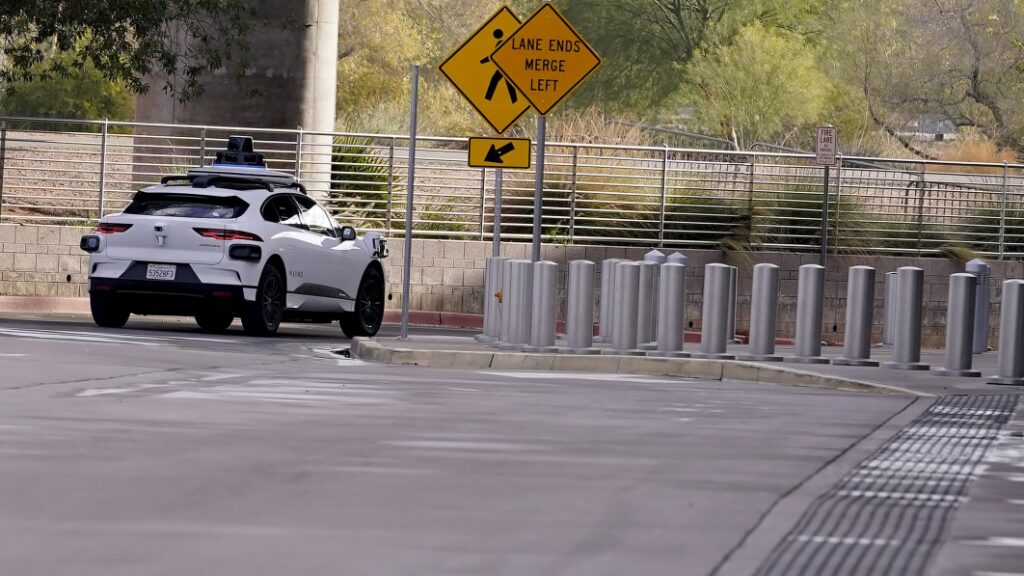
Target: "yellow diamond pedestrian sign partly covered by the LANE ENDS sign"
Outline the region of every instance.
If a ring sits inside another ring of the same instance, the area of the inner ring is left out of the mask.
[[[529,100],[490,58],[495,48],[519,28],[519,22],[512,10],[503,6],[440,67],[441,73],[499,133],[529,110]]]

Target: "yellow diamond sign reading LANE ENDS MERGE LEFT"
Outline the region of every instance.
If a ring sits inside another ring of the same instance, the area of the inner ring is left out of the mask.
[[[534,12],[490,59],[542,116],[601,65],[600,56],[550,3]]]

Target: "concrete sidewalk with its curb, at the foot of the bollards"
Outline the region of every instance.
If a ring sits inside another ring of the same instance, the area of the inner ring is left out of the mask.
[[[562,346],[564,343],[561,339],[557,342]],[[601,344],[595,346],[600,347]],[[694,352],[696,347],[687,346],[686,349]],[[995,352],[975,355],[974,367],[982,372],[984,377],[981,378],[950,377],[936,373],[934,369],[941,368],[944,362],[944,353],[941,351],[922,353],[922,362],[932,367],[933,370],[930,371],[831,364],[536,354],[503,351],[478,342],[472,337],[460,336],[411,336],[406,340],[355,338],[350,352],[353,357],[361,360],[395,366],[646,374],[926,397],[950,394],[999,394],[1024,389],[987,383],[986,377],[994,375],[996,371],[998,356]],[[728,352],[741,355],[746,352],[746,345],[730,345]],[[794,348],[778,346],[776,353],[786,357],[793,355]],[[822,356],[825,358],[842,355],[841,346],[822,348]],[[872,352],[872,360],[886,362],[891,357],[892,351],[889,347],[877,347]]]

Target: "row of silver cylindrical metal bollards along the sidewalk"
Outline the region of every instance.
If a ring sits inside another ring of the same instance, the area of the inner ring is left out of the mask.
[[[614,354],[729,360],[728,343],[735,338],[736,278],[734,266],[711,263],[705,269],[701,336],[698,352],[684,351],[686,264],[683,254],[652,252],[642,262],[610,258],[601,262],[599,335],[594,336],[595,264],[569,263],[566,302],[566,343],[557,347],[556,294],[558,266],[554,262],[492,257],[486,260],[483,333],[478,339],[500,348],[567,354]],[[740,360],[760,362],[828,363],[878,366],[871,360],[871,324],[876,271],[849,269],[846,333],[843,355],[821,356],[825,269],[800,268],[797,327],[792,356],[775,354],[779,266],[754,266],[750,341]],[[893,357],[883,366],[899,370],[928,370],[921,362],[924,271],[904,266],[886,275],[883,342],[892,343]],[[986,279],[987,282],[987,279]],[[978,344],[975,314],[977,274],[954,274],[949,279],[946,356],[938,373],[980,376],[972,368]],[[987,290],[985,290],[987,292]],[[996,383],[1024,385],[1024,280],[1004,283],[998,374]],[[987,299],[985,300],[987,310]],[[984,324],[987,330],[987,320]],[[603,351],[594,342],[605,344]],[[987,345],[987,343],[986,343]]]

